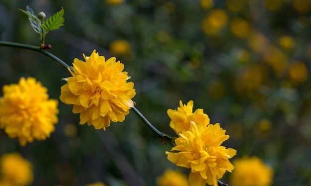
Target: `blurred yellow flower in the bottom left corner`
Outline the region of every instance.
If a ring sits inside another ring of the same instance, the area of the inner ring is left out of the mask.
[[[1,183],[5,186],[28,186],[32,183],[32,165],[18,153],[0,157]],[[4,184],[5,183],[5,184]]]

